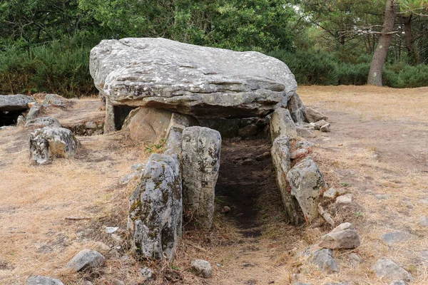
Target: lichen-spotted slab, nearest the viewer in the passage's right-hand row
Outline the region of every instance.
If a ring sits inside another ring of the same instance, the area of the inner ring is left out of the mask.
[[[298,162],[287,173],[291,195],[297,199],[307,222],[314,221],[318,215],[318,203],[322,190],[327,186],[317,164],[311,157]]]

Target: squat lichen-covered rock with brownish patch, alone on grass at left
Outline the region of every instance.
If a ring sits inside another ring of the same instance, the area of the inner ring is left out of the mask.
[[[53,157],[74,157],[80,142],[71,130],[45,127],[30,134],[30,156],[34,162],[44,164]]]

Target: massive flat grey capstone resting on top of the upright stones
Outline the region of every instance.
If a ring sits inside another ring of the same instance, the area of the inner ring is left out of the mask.
[[[113,105],[164,108],[197,118],[263,116],[287,105],[297,89],[290,69],[276,58],[165,38],[101,41],[91,51],[90,70],[109,105],[107,125],[114,121]]]

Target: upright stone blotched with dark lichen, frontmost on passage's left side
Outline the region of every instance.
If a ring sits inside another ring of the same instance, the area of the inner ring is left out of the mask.
[[[128,230],[140,257],[173,258],[181,235],[181,193],[178,156],[151,155],[129,202]]]

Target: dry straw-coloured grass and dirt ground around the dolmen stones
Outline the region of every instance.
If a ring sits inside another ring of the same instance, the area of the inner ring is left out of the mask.
[[[305,105],[330,118],[331,133],[311,139],[317,144],[311,155],[330,186],[352,193],[355,204],[328,209],[337,223],[357,227],[362,245],[335,252],[338,274],[323,274],[301,262],[298,253],[317,236],[283,221],[280,195],[270,182],[270,157],[240,168],[245,157],[238,156],[255,157],[268,151],[268,145],[230,141],[222,151],[222,163],[230,165],[220,167],[218,187],[233,190],[233,184],[252,196],[248,199],[243,191],[245,199],[240,201],[239,195],[218,190],[222,194],[212,231],[187,225],[173,264],[146,263],[159,272],[153,284],[290,284],[293,274],[312,285],[389,284],[371,270],[381,257],[411,272],[412,284],[428,284],[428,228],[419,224],[419,217],[428,216],[428,88],[304,86],[298,92]],[[147,145],[131,142],[126,133],[79,137],[83,149],[76,159],[36,167],[29,163],[27,135],[24,130],[0,130],[0,284],[23,284],[31,274],[58,277],[64,284],[83,284],[85,279],[94,284],[115,284],[117,279],[144,284],[128,252],[126,234],[121,233],[124,242],[118,243],[104,227],[126,229],[132,183],[118,182],[131,165],[148,158]],[[233,211],[220,214],[224,205]],[[251,222],[241,219],[241,212],[247,212]],[[68,216],[91,219],[69,222]],[[330,231],[325,224],[314,227],[322,234]],[[382,241],[382,234],[397,231],[408,232],[407,239],[392,245]],[[85,248],[105,254],[106,266],[94,274],[64,270]],[[350,259],[351,252],[362,257],[361,264]],[[188,264],[196,258],[211,262],[211,279],[190,273]]]

